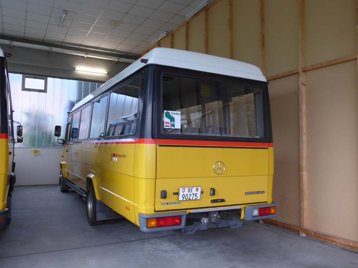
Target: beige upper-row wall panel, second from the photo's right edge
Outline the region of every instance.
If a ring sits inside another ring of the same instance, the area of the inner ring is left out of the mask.
[[[298,0],[265,1],[265,75],[298,68]]]

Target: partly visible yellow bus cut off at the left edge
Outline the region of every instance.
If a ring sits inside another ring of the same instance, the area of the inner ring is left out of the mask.
[[[9,84],[8,66],[5,57],[11,54],[0,49],[0,229],[11,220],[11,194],[16,181],[14,161],[13,106]],[[17,126],[17,135],[22,136],[22,126]],[[23,138],[18,137],[17,142]]]

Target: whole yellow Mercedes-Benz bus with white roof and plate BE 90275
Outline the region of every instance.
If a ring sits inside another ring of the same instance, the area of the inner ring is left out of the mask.
[[[91,225],[192,234],[276,214],[267,82],[251,64],[155,48],[73,107],[61,143],[60,190],[83,196]]]

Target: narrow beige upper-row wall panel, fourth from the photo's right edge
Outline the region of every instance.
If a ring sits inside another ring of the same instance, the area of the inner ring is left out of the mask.
[[[208,54],[229,58],[228,0],[208,10]]]

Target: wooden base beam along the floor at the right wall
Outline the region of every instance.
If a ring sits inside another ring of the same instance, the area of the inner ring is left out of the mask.
[[[349,248],[358,251],[358,242],[355,242],[353,240],[344,239],[341,237],[336,237],[325,233],[320,233],[315,230],[311,230],[307,228],[301,228],[297,225],[284,223],[279,220],[264,219],[264,220],[259,220],[259,223],[270,224],[285,230],[289,230],[294,233],[305,233],[308,237],[312,237],[324,242],[328,242],[331,244],[339,245],[344,248]]]

